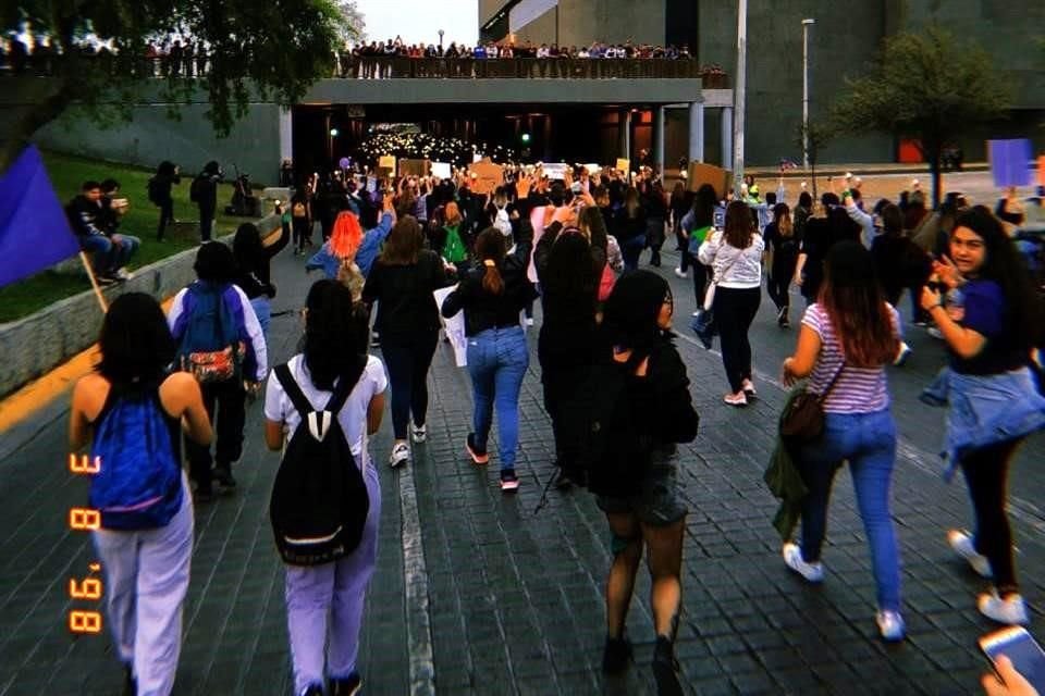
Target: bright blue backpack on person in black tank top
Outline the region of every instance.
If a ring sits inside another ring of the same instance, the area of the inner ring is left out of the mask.
[[[110,387],[95,421],[90,507],[107,530],[167,525],[182,505],[179,433],[160,406],[159,393]]]

